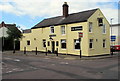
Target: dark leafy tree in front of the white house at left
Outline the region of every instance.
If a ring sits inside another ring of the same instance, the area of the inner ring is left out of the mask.
[[[4,38],[4,50],[19,49],[19,39],[22,37],[21,31],[17,27],[8,27],[8,37]],[[16,40],[15,40],[16,39]],[[16,48],[14,47],[16,46]]]

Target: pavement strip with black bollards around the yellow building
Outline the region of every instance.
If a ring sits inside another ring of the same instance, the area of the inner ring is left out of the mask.
[[[87,56],[82,56],[81,58],[79,56],[74,56],[74,55],[63,55],[63,54],[58,54],[58,56],[56,54],[53,53],[41,53],[38,52],[36,54],[36,52],[26,52],[26,54],[24,54],[23,51],[16,51],[15,53],[13,53],[13,51],[4,51],[3,54],[8,54],[8,55],[22,55],[22,56],[34,56],[34,57],[42,57],[42,58],[56,58],[56,59],[68,59],[68,60],[95,60],[95,59],[105,59],[105,58],[113,58],[116,57],[118,58],[120,56],[120,52],[114,52],[113,55],[108,54],[108,55],[102,55],[102,56],[91,56],[91,57],[87,57]]]

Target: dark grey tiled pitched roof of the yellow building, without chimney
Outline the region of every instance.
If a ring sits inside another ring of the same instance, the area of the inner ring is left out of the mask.
[[[62,25],[62,24],[85,22],[96,10],[98,9],[69,14],[69,16],[66,18],[63,16],[58,16],[58,17],[44,19],[43,21],[39,22],[37,25],[32,27],[32,29],[49,27],[52,25],[55,26],[55,25]]]

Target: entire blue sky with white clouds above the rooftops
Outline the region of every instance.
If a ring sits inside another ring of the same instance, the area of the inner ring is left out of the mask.
[[[100,8],[109,22],[111,18],[112,24],[119,22],[118,0],[0,0],[0,23],[30,29],[43,19],[61,16],[64,2],[69,5],[69,14]]]

